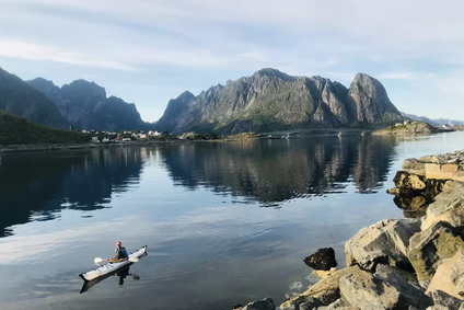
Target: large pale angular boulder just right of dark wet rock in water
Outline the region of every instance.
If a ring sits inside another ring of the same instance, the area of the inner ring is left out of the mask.
[[[419,219],[387,219],[362,228],[345,244],[347,265],[374,271],[382,263],[410,269],[409,238],[419,230]]]

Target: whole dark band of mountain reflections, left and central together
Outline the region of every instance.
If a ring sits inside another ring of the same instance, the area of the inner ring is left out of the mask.
[[[55,219],[62,208],[109,207],[114,193],[137,186],[153,149],[176,185],[277,207],[344,192],[351,182],[359,193],[375,193],[396,143],[394,137],[312,137],[3,156],[0,237],[14,225]]]

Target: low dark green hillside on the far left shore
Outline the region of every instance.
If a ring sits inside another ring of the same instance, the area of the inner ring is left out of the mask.
[[[89,135],[51,128],[0,111],[0,145],[85,143],[89,141]]]

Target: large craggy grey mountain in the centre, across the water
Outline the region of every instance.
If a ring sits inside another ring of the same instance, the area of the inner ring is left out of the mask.
[[[383,85],[358,73],[349,89],[322,77],[262,69],[195,96],[171,100],[156,124],[171,133],[271,131],[291,128],[379,126],[402,120]]]

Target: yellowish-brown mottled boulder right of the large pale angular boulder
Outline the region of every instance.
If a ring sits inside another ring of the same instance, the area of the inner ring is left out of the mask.
[[[419,283],[427,286],[437,271],[439,261],[450,259],[463,248],[464,241],[444,222],[438,222],[414,234],[409,240],[409,262]]]

